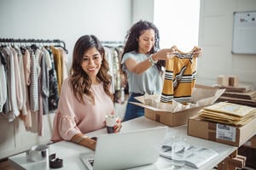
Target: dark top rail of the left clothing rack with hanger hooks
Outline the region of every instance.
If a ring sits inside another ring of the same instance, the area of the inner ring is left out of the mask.
[[[62,40],[59,39],[53,39],[53,40],[49,40],[49,39],[14,39],[14,38],[0,38],[0,43],[1,45],[8,45],[8,44],[14,44],[14,43],[20,43],[20,45],[22,45],[22,43],[41,43],[41,44],[45,44],[45,43],[50,43],[53,44],[55,47],[60,47],[63,48],[66,53],[68,53],[67,48],[66,48],[66,43]]]

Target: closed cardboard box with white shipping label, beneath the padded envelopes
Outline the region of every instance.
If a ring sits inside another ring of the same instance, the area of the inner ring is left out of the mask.
[[[256,116],[242,127],[224,125],[201,120],[199,116],[189,118],[188,135],[208,139],[222,144],[241,146],[256,133]]]

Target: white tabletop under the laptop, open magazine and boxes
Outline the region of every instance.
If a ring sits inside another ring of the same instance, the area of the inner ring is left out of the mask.
[[[144,116],[139,117],[137,119],[133,119],[128,122],[123,122],[123,127],[121,129],[121,132],[125,131],[131,131],[136,129],[143,129],[147,127],[157,127],[157,126],[163,126],[163,124],[159,122],[154,122]],[[92,133],[88,133],[87,135],[90,137],[97,136],[102,133],[107,133],[106,129],[101,129]],[[206,165],[201,167],[200,169],[208,170],[212,169],[216,165],[218,165],[219,162],[223,161],[226,156],[229,156],[232,152],[234,152],[237,147],[227,145],[227,144],[219,144],[217,142],[212,142],[205,139],[199,139],[192,136],[187,135],[187,125],[179,126],[179,127],[169,127],[168,128],[168,134],[166,136],[166,139],[168,139],[168,136],[172,135],[184,135],[187,136],[189,144],[196,144],[201,145],[207,148],[210,148],[212,150],[216,150],[218,152],[218,156],[212,159],[212,161],[207,162]],[[127,145],[126,145],[127,146]],[[87,149],[83,146],[80,146],[79,144],[73,144],[71,142],[67,141],[61,141],[55,144],[49,144],[49,154],[56,153],[56,156],[63,159],[63,167],[58,169],[86,169],[84,166],[84,163],[80,160],[79,154],[84,152],[91,152],[90,149]],[[45,161],[39,161],[39,162],[31,162],[26,161],[26,153],[20,153],[15,156],[9,157],[9,162],[16,167],[17,169],[28,169],[28,170],[41,170],[41,169],[47,169],[49,167],[45,166]],[[132,170],[167,170],[171,169],[171,160],[159,157],[158,161],[152,165],[149,166],[143,166],[143,167],[135,167],[131,168]],[[49,168],[50,169],[50,168]],[[194,169],[192,167],[185,167],[184,169]]]

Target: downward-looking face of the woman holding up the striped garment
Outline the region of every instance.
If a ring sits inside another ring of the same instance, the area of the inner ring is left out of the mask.
[[[148,29],[142,32],[138,37],[138,52],[141,54],[148,54],[154,46],[154,30]]]

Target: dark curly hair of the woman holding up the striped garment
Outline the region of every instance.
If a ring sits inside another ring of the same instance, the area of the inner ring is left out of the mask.
[[[148,22],[146,20],[139,20],[137,23],[135,23],[133,26],[131,26],[130,30],[127,32],[125,36],[125,47],[124,47],[124,52],[122,54],[122,58],[124,54],[131,52],[131,51],[136,51],[138,52],[138,39],[139,37],[143,34],[144,31],[153,29],[154,30],[154,46],[151,48],[149,51],[149,54],[154,54],[157,51],[160,50],[160,35],[159,35],[159,30],[157,29],[156,26],[154,26],[153,23]],[[158,70],[161,72],[161,67],[166,65],[165,60],[159,60],[156,64]]]

